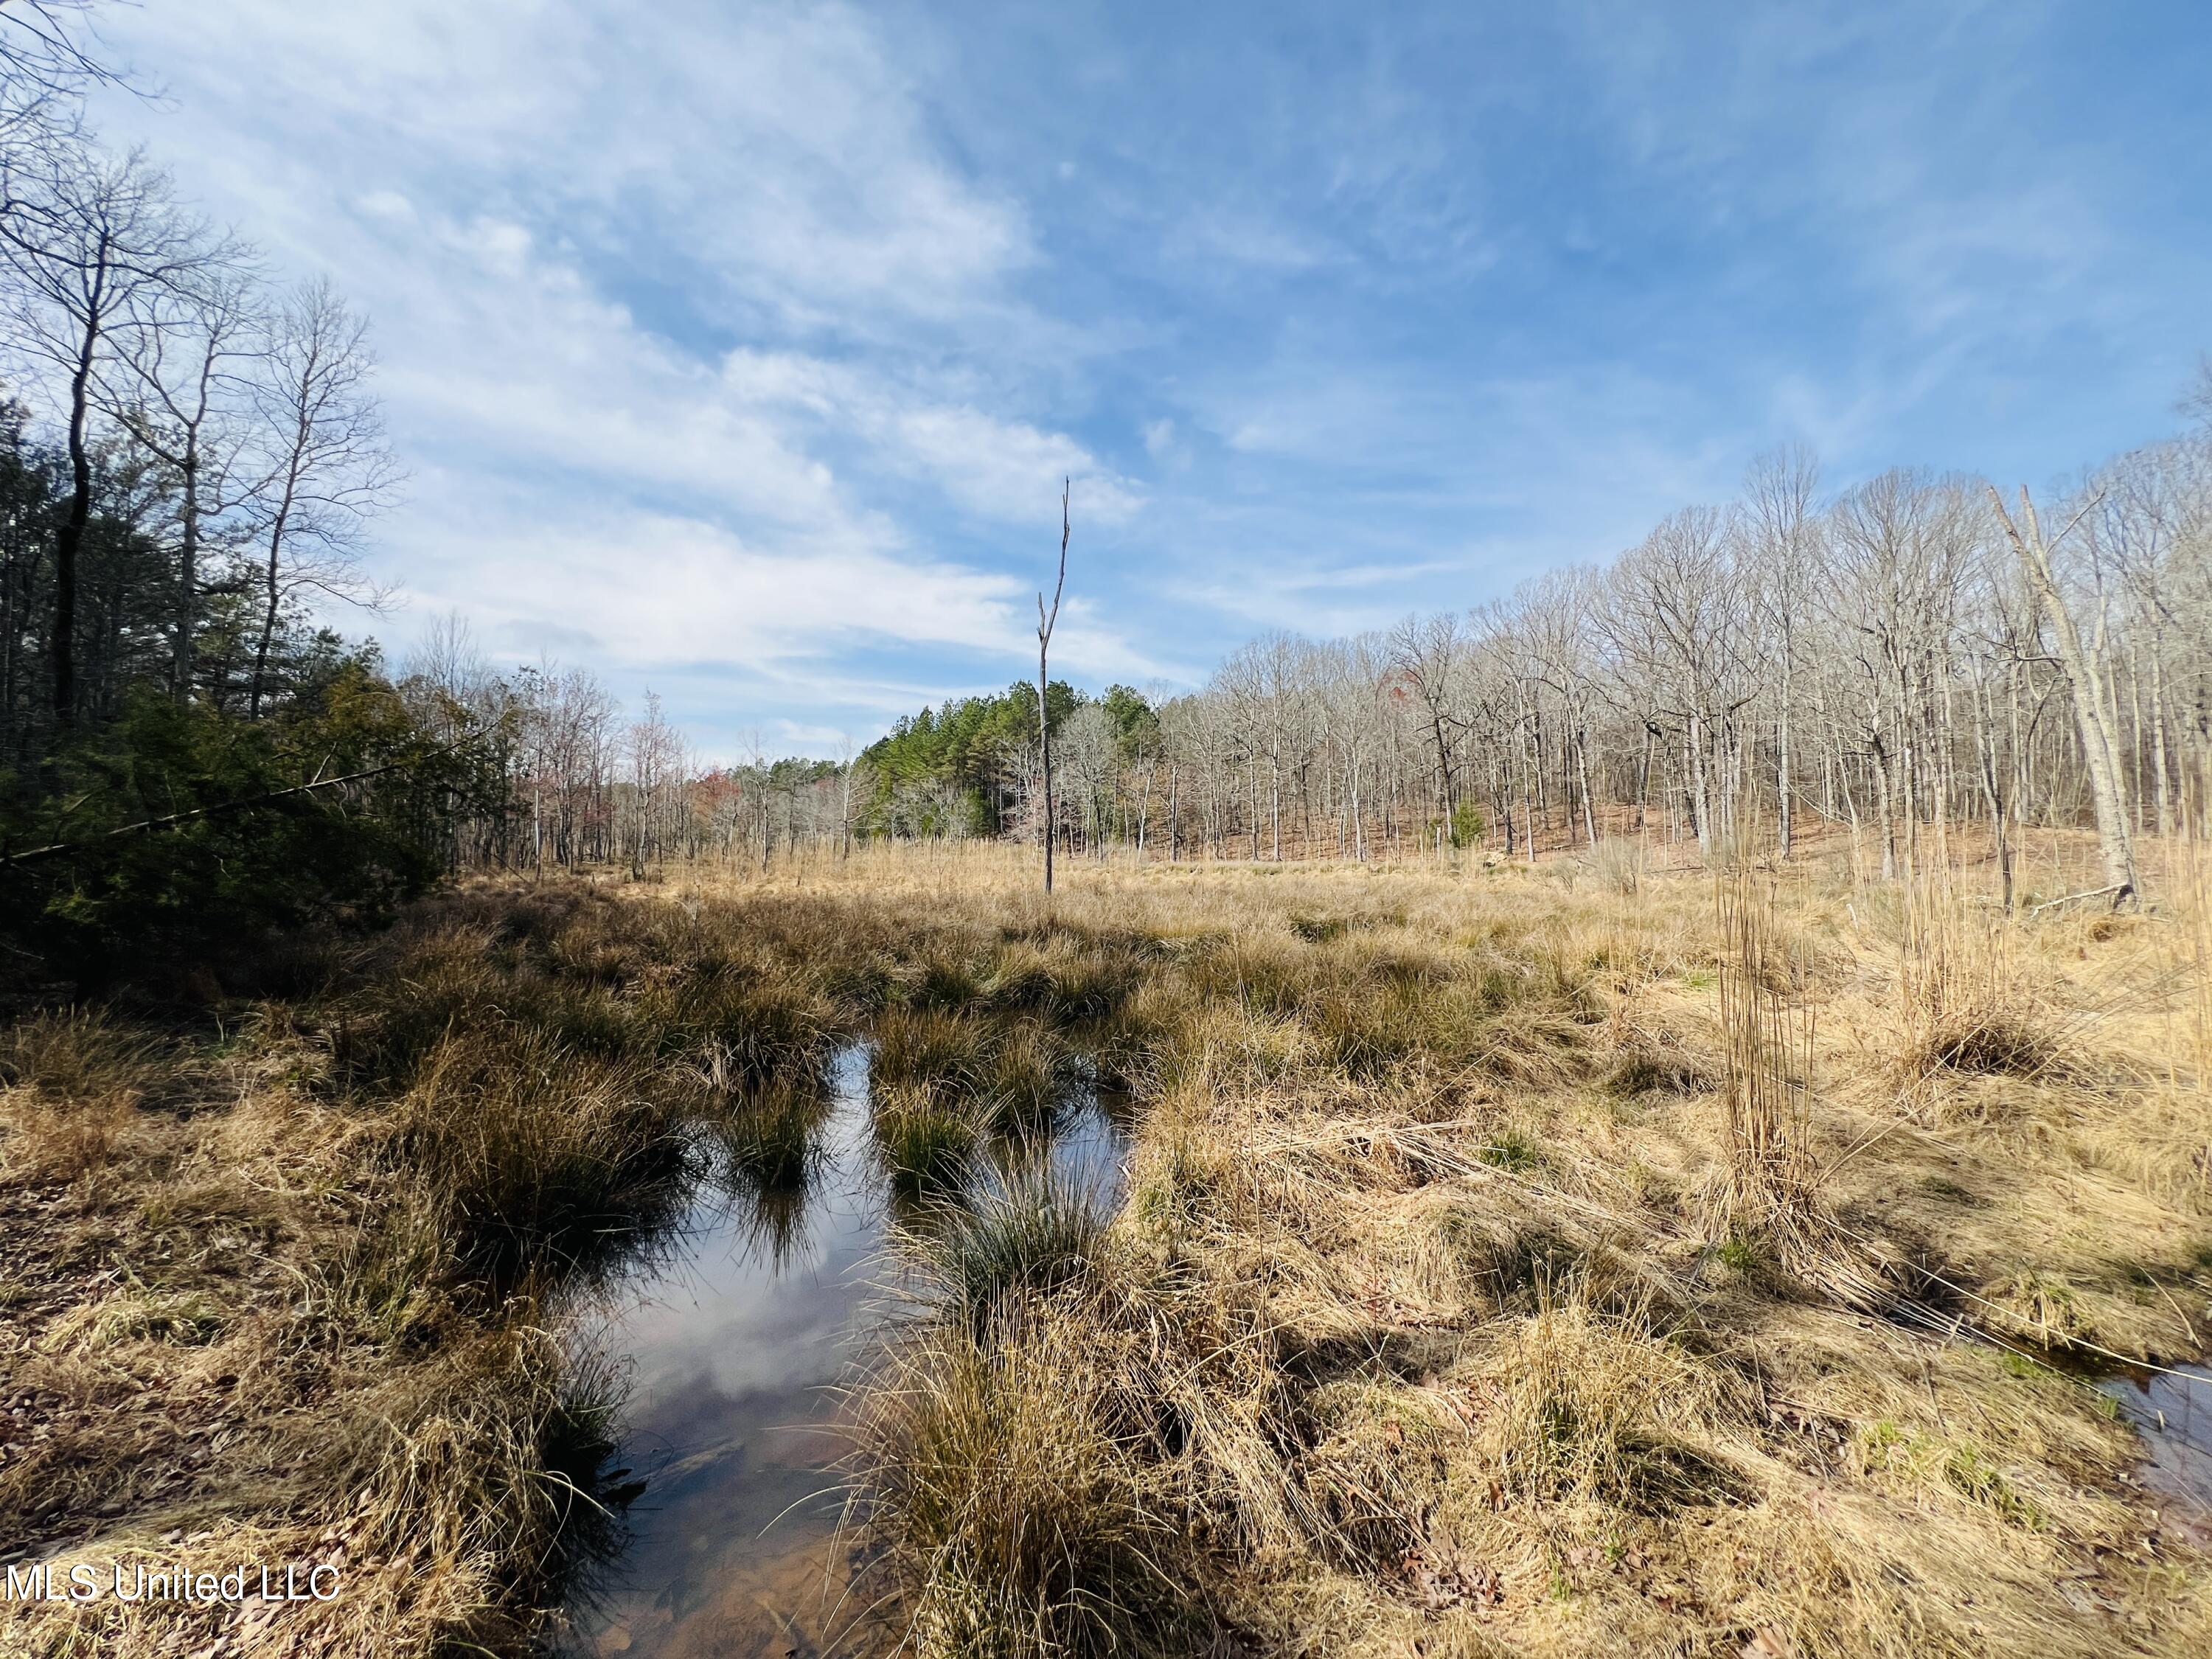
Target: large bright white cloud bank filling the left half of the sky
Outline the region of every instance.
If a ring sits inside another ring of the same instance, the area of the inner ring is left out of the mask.
[[[821,677],[856,639],[1018,659],[1022,584],[920,551],[905,500],[1029,524],[1073,476],[1093,522],[1139,511],[1009,407],[1055,327],[1009,299],[1026,219],[940,155],[856,13],[119,13],[175,97],[111,122],[374,319],[418,478],[380,526],[407,615],[635,672]],[[1068,659],[1146,666],[1102,628]]]

